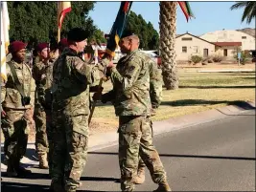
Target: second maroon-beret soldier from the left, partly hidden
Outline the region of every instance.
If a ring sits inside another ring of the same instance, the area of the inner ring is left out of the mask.
[[[48,139],[46,133],[46,111],[51,110],[50,103],[45,102],[45,90],[49,89],[51,83],[47,79],[46,71],[51,69],[53,60],[50,60],[50,49],[48,43],[39,43],[36,48],[37,57],[33,66],[33,77],[35,79],[35,148],[39,159],[39,168],[48,169]],[[50,70],[51,71],[51,70]],[[49,72],[51,73],[51,72]],[[48,104],[48,106],[47,106]],[[47,109],[46,109],[47,110]]]

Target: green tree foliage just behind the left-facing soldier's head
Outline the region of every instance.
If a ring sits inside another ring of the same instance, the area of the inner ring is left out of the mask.
[[[141,14],[130,11],[126,31],[138,34],[140,48],[144,50],[158,50],[159,34],[153,29],[151,22],[147,23]]]

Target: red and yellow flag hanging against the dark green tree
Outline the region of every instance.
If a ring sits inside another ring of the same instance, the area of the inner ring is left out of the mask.
[[[71,11],[70,1],[58,2],[58,29],[61,29],[65,14]]]

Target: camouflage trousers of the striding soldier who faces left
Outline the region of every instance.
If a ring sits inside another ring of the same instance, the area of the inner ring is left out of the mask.
[[[147,117],[119,117],[119,165],[122,191],[134,190],[139,157],[155,183],[166,181],[166,172],[152,144],[151,120]]]

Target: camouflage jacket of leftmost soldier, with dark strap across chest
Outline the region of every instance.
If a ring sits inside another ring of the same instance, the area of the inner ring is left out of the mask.
[[[26,96],[30,96],[30,89],[31,89],[31,80],[32,80],[32,73],[30,67],[25,64],[18,64],[11,60],[6,65],[6,73],[7,73],[7,82],[5,85],[2,85],[1,87],[1,98],[2,98],[2,105],[6,108],[12,108],[12,109],[30,109],[32,106],[26,105],[22,106],[21,102],[21,95],[18,92],[15,84],[13,75],[11,72],[11,68],[9,65],[14,65],[14,69],[17,74],[17,78],[22,85],[22,88],[24,90],[24,94]]]

